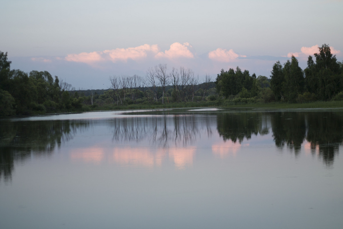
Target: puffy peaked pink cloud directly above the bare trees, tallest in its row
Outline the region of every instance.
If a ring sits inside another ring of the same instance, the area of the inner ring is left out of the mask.
[[[175,42],[170,45],[169,50],[165,50],[164,52],[159,52],[156,54],[155,58],[179,58],[179,57],[186,57],[186,58],[194,58],[194,54],[189,50],[192,46],[189,43],[180,44]]]

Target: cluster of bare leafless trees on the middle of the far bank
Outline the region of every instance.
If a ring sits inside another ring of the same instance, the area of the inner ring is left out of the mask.
[[[206,75],[205,80],[200,83],[193,70],[173,67],[170,72],[167,72],[166,64],[149,68],[145,77],[114,75],[109,77],[109,81],[111,91],[105,92],[104,95],[107,94],[106,99],[112,98],[112,102],[117,105],[194,102],[205,100],[214,88],[209,75]]]

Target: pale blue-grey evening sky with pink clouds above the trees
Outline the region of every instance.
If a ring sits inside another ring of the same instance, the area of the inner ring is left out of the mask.
[[[238,66],[270,77],[292,54],[302,69],[328,44],[343,59],[343,0],[1,1],[11,69],[49,71],[76,89],[158,64],[215,80]]]

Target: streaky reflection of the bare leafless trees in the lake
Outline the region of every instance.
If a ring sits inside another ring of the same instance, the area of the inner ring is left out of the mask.
[[[199,137],[202,130],[207,137],[212,135],[215,125],[213,116],[199,115],[161,115],[135,117],[134,119],[115,119],[113,122],[113,140],[118,142],[148,140],[151,145],[166,148],[170,144],[188,146]],[[204,125],[205,123],[205,125]]]

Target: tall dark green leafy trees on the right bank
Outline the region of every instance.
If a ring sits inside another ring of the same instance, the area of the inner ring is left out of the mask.
[[[249,75],[239,67],[217,75],[215,84],[221,98],[245,102],[309,102],[343,100],[343,64],[331,54],[329,45],[319,47],[315,61],[308,57],[302,70],[292,56],[284,65],[273,65],[270,79]]]

